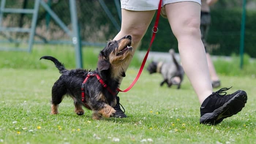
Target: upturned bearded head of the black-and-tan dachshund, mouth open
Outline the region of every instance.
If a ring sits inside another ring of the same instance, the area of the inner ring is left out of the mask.
[[[126,35],[119,40],[109,41],[98,56],[98,71],[111,69],[114,79],[125,76],[123,66],[132,58],[133,48],[131,47],[132,37]]]

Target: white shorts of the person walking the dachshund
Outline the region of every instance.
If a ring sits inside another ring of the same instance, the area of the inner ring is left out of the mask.
[[[164,5],[170,3],[177,3],[181,1],[194,1],[201,5],[201,0],[162,0],[161,15],[166,18]],[[159,0],[121,0],[121,8],[131,11],[151,11],[157,10]]]

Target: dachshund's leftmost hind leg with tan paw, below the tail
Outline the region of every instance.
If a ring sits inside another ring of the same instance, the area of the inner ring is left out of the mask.
[[[58,106],[61,103],[64,95],[67,93],[67,88],[65,87],[63,81],[57,80],[52,87],[52,107],[51,114],[58,113]]]

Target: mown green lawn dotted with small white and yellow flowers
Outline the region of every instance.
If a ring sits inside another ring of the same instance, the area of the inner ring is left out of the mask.
[[[122,90],[137,72],[128,69]],[[59,76],[57,69],[0,69],[0,144],[255,143],[255,77],[221,75],[222,87],[233,86],[228,93],[245,90],[248,101],[240,113],[209,126],[199,124],[200,104],[187,77],[180,90],[160,87],[161,75],[146,69],[130,91],[118,94],[127,118],[92,120],[90,110],[76,115],[71,98],[50,115]]]

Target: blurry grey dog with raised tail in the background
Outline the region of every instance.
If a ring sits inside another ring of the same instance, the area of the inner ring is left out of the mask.
[[[163,61],[152,61],[148,67],[147,70],[150,74],[152,73],[161,73],[163,76],[163,81],[160,83],[160,86],[163,86],[164,83],[168,85],[168,87],[171,87],[172,84],[178,85],[178,89],[180,89],[181,82],[184,77],[184,70],[181,67],[180,64],[178,64],[175,56],[174,56],[174,50],[169,50],[170,55],[172,56],[173,61],[172,62],[163,62]],[[175,82],[173,77],[179,77],[180,82]]]

